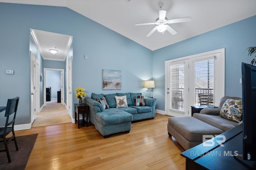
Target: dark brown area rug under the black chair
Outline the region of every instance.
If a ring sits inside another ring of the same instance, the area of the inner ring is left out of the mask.
[[[0,152],[0,170],[24,170],[38,134],[16,137],[19,150],[16,151],[14,141],[8,144],[11,163],[8,163],[6,152]],[[4,149],[4,143],[0,142],[0,150]]]

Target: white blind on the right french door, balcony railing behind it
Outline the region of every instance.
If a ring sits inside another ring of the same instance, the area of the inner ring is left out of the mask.
[[[194,103],[214,105],[215,56],[193,62],[194,70]]]

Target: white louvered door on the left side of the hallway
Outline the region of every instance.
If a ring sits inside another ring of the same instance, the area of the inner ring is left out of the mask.
[[[36,57],[30,51],[30,123],[32,124],[36,117]]]

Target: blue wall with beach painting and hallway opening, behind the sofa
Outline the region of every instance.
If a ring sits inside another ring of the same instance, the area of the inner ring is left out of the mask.
[[[16,125],[30,123],[30,28],[73,36],[73,91],[83,87],[89,97],[146,94],[143,81],[152,79],[152,51],[142,45],[65,7],[0,3],[0,16],[0,105],[20,96]],[[6,75],[6,69],[14,75]],[[102,69],[122,71],[122,90],[102,90]],[[74,93],[73,101],[78,102]]]

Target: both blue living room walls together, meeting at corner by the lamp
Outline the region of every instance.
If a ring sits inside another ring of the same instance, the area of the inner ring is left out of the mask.
[[[30,123],[30,28],[73,36],[73,54],[68,55],[73,55],[73,91],[83,87],[88,97],[116,92],[146,95],[143,81],[153,79],[159,110],[164,110],[164,61],[225,48],[225,93],[241,97],[241,62],[250,63],[246,48],[256,45],[256,16],[156,51],[65,7],[0,3],[0,16],[0,105],[20,96],[17,125]],[[7,75],[6,69],[14,70],[14,75]],[[122,71],[122,90],[102,90],[102,69]],[[73,93],[73,103],[77,102]]]

